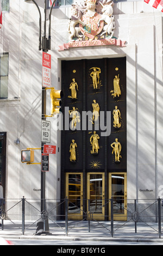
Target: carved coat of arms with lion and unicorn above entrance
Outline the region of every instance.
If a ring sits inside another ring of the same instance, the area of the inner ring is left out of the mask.
[[[70,41],[112,38],[115,21],[112,1],[86,0],[72,4],[72,15],[68,24]]]

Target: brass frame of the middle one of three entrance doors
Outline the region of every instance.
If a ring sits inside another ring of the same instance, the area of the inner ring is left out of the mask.
[[[91,174],[102,174],[102,213],[96,214],[91,212],[92,218],[95,218],[95,220],[104,221],[105,220],[105,173],[104,172],[92,172],[87,173],[87,212],[89,212],[89,200],[90,199],[90,175]]]

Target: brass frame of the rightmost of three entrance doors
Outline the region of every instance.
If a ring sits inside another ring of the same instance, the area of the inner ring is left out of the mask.
[[[124,175],[124,214],[114,214],[114,221],[127,221],[127,173],[109,173],[109,198],[111,194],[111,175],[120,174]],[[113,198],[114,199],[114,198]],[[109,221],[111,220],[111,204],[109,202]]]

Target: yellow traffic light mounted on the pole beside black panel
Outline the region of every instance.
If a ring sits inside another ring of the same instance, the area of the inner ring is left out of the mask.
[[[61,100],[64,93],[61,90],[55,90],[51,88],[51,114],[59,114],[61,112]]]

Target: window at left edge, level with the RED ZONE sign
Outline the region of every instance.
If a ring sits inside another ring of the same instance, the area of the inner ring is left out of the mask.
[[[8,97],[9,54],[0,54],[0,99]]]

